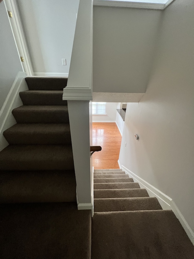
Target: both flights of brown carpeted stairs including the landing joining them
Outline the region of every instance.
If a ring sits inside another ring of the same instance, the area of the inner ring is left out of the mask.
[[[92,222],[77,209],[67,79],[25,80],[0,152],[0,258],[193,259],[174,213],[121,169],[95,170]]]

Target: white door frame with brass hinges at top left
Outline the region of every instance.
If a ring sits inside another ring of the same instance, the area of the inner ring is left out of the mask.
[[[22,56],[24,58],[24,62],[21,61],[23,71],[26,73],[27,76],[33,76],[34,72],[32,69],[32,63],[28,51],[28,46],[25,40],[22,22],[20,19],[18,6],[16,0],[4,0],[5,7],[7,11],[12,12],[12,18],[9,17],[9,22],[12,28],[12,33],[15,39],[15,44],[18,50],[19,58]]]

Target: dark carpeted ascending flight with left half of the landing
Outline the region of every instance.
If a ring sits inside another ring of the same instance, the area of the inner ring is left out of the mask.
[[[77,210],[67,78],[26,77],[0,152],[0,258],[91,258],[91,212]]]

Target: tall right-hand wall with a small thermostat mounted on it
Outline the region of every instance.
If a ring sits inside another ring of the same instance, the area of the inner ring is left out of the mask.
[[[121,165],[173,199],[192,230],[193,13],[193,0],[176,0],[165,9],[148,88],[139,103],[127,105],[119,155]]]

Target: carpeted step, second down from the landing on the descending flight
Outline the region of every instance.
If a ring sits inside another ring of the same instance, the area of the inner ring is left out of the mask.
[[[95,199],[149,197],[146,189],[105,189],[94,190]]]

